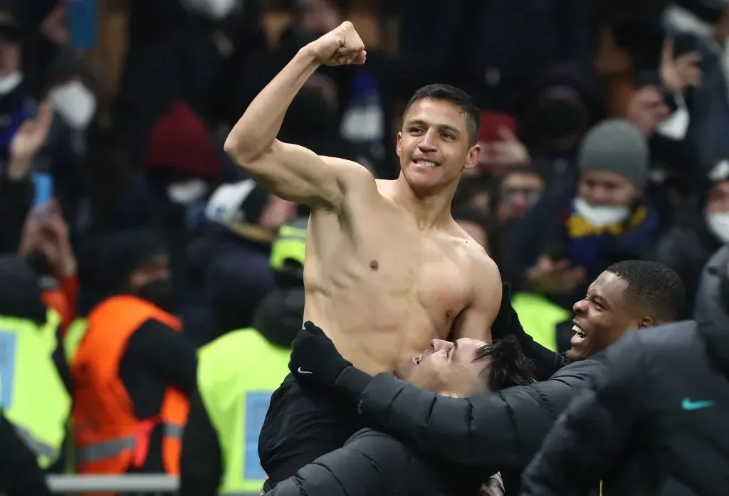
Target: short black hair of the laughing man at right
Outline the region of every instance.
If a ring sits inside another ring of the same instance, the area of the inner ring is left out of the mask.
[[[652,315],[660,322],[671,322],[686,304],[681,277],[657,261],[619,261],[606,270],[628,283],[625,302],[636,315]]]

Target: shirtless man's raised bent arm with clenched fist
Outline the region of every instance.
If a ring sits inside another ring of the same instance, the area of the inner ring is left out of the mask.
[[[338,208],[348,186],[374,184],[370,173],[354,162],[319,157],[303,146],[276,139],[286,110],[321,61],[335,65],[360,60],[337,59],[343,56],[338,51],[364,52],[351,23],[343,23],[301,49],[254,98],[225,141],[225,152],[252,179],[278,197],[312,207]]]

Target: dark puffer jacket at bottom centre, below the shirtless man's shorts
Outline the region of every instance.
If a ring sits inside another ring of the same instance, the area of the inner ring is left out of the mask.
[[[430,466],[396,439],[363,429],[266,496],[475,496],[480,481],[461,473]]]

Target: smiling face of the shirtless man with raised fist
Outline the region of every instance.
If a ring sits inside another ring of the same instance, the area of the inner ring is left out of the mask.
[[[397,156],[405,180],[416,192],[457,184],[461,173],[477,164],[480,148],[471,145],[469,117],[445,100],[414,102],[397,133]]]

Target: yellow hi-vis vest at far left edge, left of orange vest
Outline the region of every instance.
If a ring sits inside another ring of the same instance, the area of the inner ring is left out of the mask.
[[[0,315],[0,406],[18,436],[47,468],[58,459],[71,412],[71,397],[53,363],[61,316],[47,323]]]

